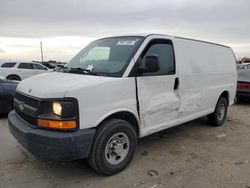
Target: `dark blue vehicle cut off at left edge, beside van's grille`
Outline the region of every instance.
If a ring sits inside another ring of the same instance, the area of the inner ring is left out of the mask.
[[[0,114],[7,114],[13,109],[13,98],[18,82],[0,76]]]

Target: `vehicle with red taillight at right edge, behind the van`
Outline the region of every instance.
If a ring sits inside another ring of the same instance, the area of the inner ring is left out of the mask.
[[[238,65],[237,100],[250,99],[250,63]]]

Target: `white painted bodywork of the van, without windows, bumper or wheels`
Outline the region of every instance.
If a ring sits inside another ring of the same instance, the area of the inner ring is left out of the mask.
[[[17,92],[38,99],[77,99],[80,130],[96,129],[113,115],[127,114],[134,120],[138,137],[211,114],[221,96],[228,105],[233,104],[237,71],[231,48],[167,35],[142,36],[143,42],[121,77],[55,72],[25,79]],[[174,71],[131,76],[153,40],[171,41]]]

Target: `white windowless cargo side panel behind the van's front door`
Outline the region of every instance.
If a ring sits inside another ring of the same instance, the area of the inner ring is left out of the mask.
[[[223,91],[236,93],[236,61],[230,48],[192,40],[174,40],[180,76],[180,117],[214,111]]]

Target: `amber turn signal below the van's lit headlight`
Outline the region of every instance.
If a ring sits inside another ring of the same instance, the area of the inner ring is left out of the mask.
[[[76,121],[54,121],[38,119],[38,126],[51,129],[75,129]]]

